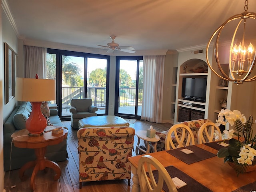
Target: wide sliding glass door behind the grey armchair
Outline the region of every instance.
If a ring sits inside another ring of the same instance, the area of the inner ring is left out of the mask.
[[[70,119],[72,98],[91,98],[92,105],[99,108],[98,115],[107,115],[110,57],[54,49],[47,52],[47,77],[56,79],[60,117]]]

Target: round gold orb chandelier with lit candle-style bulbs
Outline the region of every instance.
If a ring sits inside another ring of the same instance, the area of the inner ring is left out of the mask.
[[[228,20],[226,20],[213,33],[206,48],[206,60],[212,72],[214,72],[214,74],[216,74],[219,78],[223,80],[231,81],[237,84],[242,84],[243,82],[250,82],[250,81],[256,80],[256,75],[251,74],[252,69],[254,68],[254,65],[255,65],[255,56],[256,56],[255,48],[253,44],[250,42],[252,39],[245,38],[246,37],[245,32],[252,31],[251,26],[249,26],[250,28],[246,30],[246,22],[248,23],[249,19],[250,19],[250,22],[251,20],[255,22],[256,14],[254,12],[248,12],[247,10],[248,10],[248,0],[245,0],[244,12],[242,14],[237,14],[228,18]],[[219,42],[221,38],[220,35],[224,31],[223,30],[224,27],[226,26],[226,28],[229,28],[230,23],[235,22],[235,20],[237,23],[235,24],[235,30],[232,36],[230,50],[229,50],[229,53],[225,53],[226,55],[229,54],[229,66],[228,66],[228,70],[224,70],[222,68],[223,63],[220,62],[220,57],[219,57],[219,54],[223,52],[220,46],[221,44],[224,44]],[[209,52],[210,44],[212,42],[214,42],[214,56],[215,56],[216,64],[221,74],[216,72],[213,69],[213,68],[216,68],[214,67],[215,62],[212,62],[212,64],[211,62],[209,62],[208,52]]]

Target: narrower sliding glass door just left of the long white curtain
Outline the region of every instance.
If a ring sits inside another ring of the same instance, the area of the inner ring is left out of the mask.
[[[116,57],[116,66],[115,114],[139,119],[143,94],[142,57]]]

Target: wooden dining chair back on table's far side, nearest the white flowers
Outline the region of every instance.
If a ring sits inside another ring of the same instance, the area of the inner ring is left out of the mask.
[[[216,126],[214,122],[206,122],[202,124],[198,130],[198,135],[197,135],[198,144],[222,140],[222,137],[218,139],[215,138],[215,134],[214,134],[215,130],[217,130],[217,132],[221,134],[220,128]]]

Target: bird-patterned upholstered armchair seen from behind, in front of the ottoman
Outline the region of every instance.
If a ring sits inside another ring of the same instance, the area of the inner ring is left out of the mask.
[[[77,132],[79,187],[82,182],[128,179],[135,130],[131,127],[81,128]]]

